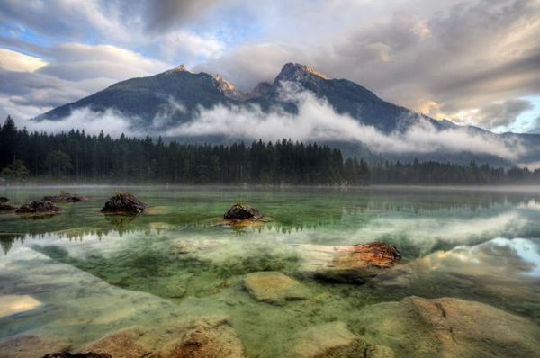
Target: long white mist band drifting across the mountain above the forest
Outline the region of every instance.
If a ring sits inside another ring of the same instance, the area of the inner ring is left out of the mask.
[[[423,122],[404,133],[385,135],[373,126],[338,114],[324,99],[310,92],[295,91],[284,84],[282,95],[298,106],[298,114],[275,108],[264,112],[257,105],[216,105],[199,109],[193,121],[166,131],[166,136],[222,135],[233,139],[277,140],[284,137],[300,141],[350,141],[363,143],[376,153],[433,153],[463,151],[490,154],[515,160],[525,153],[516,139],[501,139],[478,131],[455,128],[437,130]]]

